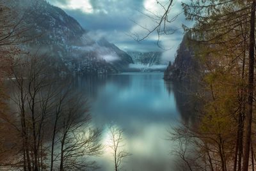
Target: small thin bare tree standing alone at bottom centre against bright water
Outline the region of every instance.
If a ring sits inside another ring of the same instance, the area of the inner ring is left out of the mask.
[[[109,126],[109,147],[112,149],[115,161],[115,171],[121,170],[121,165],[125,158],[131,154],[125,150],[124,131],[117,126]]]

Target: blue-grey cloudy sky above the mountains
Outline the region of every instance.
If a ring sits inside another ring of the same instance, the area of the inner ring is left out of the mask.
[[[161,15],[163,8],[156,0],[47,0],[49,3],[65,10],[68,15],[74,17],[88,34],[97,39],[106,38],[122,50],[135,50],[140,52],[160,51],[157,47],[157,34],[152,34],[145,41],[137,42],[131,38],[135,33],[141,38],[147,31],[140,26],[153,28],[155,23],[147,16],[150,12]],[[168,0],[161,0],[161,4],[168,4]],[[182,12],[181,0],[173,4],[170,16]],[[150,11],[150,12],[148,12]],[[175,52],[183,36],[182,24],[189,25],[180,14],[172,23],[172,28],[177,29],[172,35],[161,37],[161,45],[170,50],[163,50],[163,60],[173,61]],[[140,26],[139,26],[140,25]]]

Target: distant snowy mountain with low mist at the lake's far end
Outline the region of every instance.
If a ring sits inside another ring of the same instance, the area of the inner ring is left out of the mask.
[[[140,71],[164,71],[166,65],[161,63],[162,52],[137,52],[128,51],[127,54],[132,57],[134,64],[131,68]]]

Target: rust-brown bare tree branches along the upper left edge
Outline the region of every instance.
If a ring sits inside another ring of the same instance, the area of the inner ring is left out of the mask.
[[[13,59],[20,54],[20,49],[16,45],[30,40],[24,33],[28,31],[28,26],[24,26],[22,13],[17,13],[8,4],[15,4],[15,1],[0,2],[0,107],[2,124],[10,124],[10,114],[6,100],[6,87],[4,80],[12,74]],[[12,127],[12,124],[9,125]],[[2,145],[2,144],[1,144]],[[5,151],[6,149],[4,149]]]

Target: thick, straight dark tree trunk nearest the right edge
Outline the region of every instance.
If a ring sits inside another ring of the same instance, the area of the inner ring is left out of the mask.
[[[254,46],[255,46],[255,2],[252,2],[250,17],[250,45],[249,45],[249,64],[248,64],[248,100],[246,111],[246,126],[244,137],[244,157],[243,171],[248,171],[250,144],[252,134],[252,112],[253,112],[253,79],[254,79]]]

